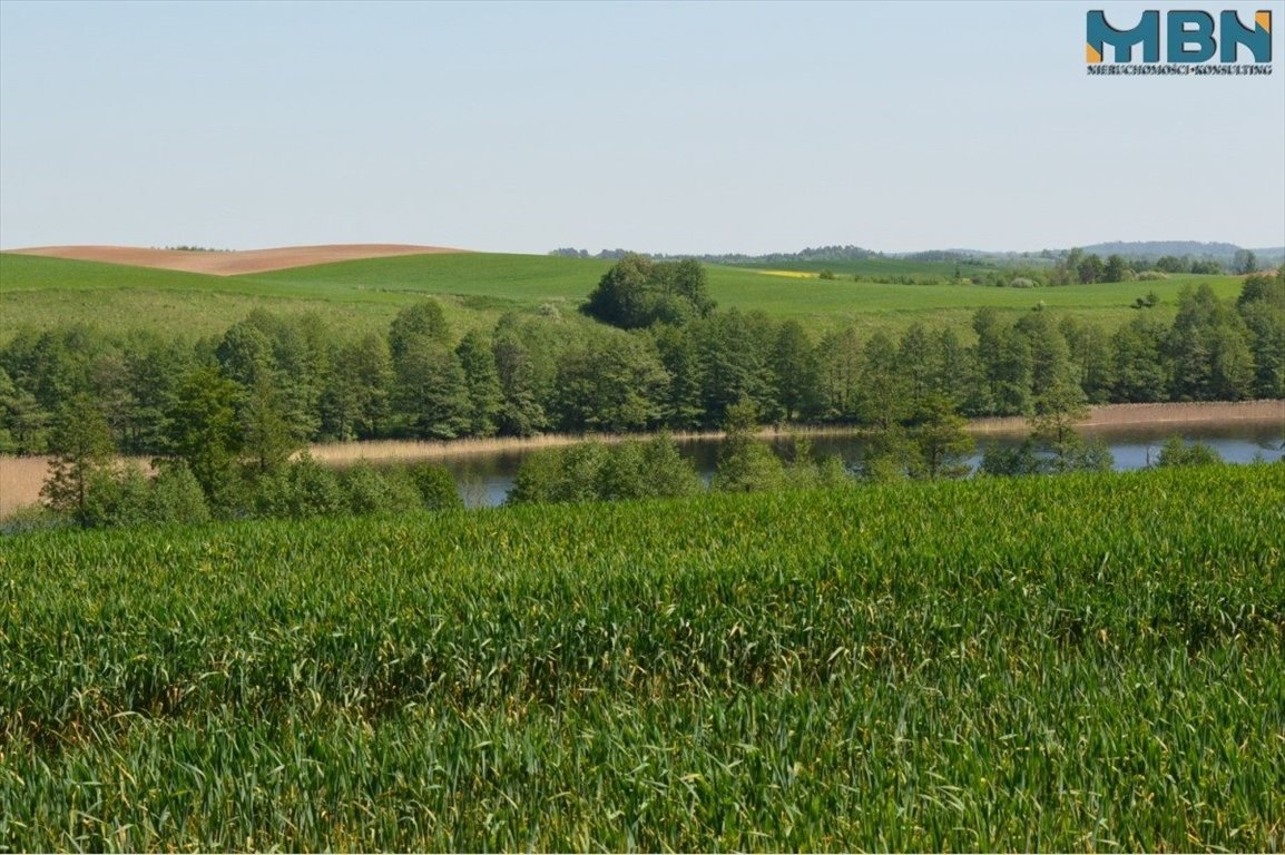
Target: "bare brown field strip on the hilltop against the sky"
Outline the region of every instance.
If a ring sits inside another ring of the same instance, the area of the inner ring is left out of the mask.
[[[182,249],[149,249],[145,246],[32,246],[9,250],[19,255],[45,255],[71,261],[93,261],[131,267],[155,267],[188,273],[238,276],[266,273],[290,267],[311,267],[362,258],[424,255],[429,253],[463,253],[464,249],[420,246],[415,244],[325,244],[320,246],[278,246],[236,252],[203,252]]]

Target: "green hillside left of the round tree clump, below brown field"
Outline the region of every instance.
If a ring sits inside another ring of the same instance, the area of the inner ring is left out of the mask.
[[[443,259],[464,263],[439,264]],[[393,263],[401,262],[401,263]],[[568,273],[580,264],[583,277]],[[0,340],[18,329],[85,321],[107,330],[212,335],[251,311],[314,312],[346,331],[387,329],[397,311],[441,298],[456,329],[554,303],[573,311],[608,264],[540,255],[409,255],[211,276],[99,262],[0,254]]]

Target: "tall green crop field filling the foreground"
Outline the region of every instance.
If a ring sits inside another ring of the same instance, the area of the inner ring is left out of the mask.
[[[0,850],[1285,846],[1279,466],[0,540]]]

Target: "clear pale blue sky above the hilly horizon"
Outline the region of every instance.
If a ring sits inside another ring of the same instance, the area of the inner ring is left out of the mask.
[[[1090,78],[1085,14],[1273,12]],[[1285,3],[0,1],[0,246],[1285,244]]]

